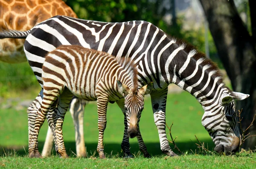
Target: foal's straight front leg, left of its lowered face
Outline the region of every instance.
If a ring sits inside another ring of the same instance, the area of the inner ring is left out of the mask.
[[[97,151],[99,158],[105,158],[104,146],[103,146],[103,135],[107,125],[107,107],[108,100],[104,97],[97,98],[97,109],[98,109],[98,129],[99,129],[99,140]]]

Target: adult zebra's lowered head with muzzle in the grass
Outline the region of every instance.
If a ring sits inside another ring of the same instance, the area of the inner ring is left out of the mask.
[[[216,152],[228,155],[239,150],[240,132],[234,100],[247,97],[249,95],[226,91],[217,99],[215,106],[203,105],[202,125],[212,138]]]

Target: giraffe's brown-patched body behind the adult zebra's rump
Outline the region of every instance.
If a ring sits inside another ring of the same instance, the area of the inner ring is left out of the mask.
[[[55,15],[77,17],[62,0],[0,0],[0,29],[26,31]],[[24,39],[1,39],[0,61],[25,62],[24,41]]]

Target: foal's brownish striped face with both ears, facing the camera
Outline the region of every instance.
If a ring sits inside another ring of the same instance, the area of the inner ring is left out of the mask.
[[[153,83],[148,83],[140,89],[130,89],[117,80],[119,92],[125,98],[125,116],[127,119],[128,135],[134,138],[138,134],[141,112],[144,109],[144,95],[147,95],[153,89]]]

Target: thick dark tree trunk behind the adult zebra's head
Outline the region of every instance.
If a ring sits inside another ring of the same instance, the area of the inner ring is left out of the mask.
[[[200,2],[209,22],[209,29],[218,55],[230,77],[233,90],[250,95],[245,100],[237,101],[236,104],[237,109],[243,108],[242,125],[243,129],[246,129],[256,112],[255,41],[247,32],[233,0],[200,0]],[[256,122],[248,132],[256,134]],[[250,137],[244,143],[243,148],[255,149],[255,146],[256,137]]]

